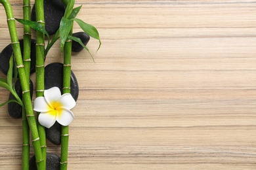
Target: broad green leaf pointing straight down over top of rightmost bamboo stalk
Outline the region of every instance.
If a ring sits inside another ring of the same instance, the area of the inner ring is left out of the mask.
[[[72,20],[64,17],[60,20],[60,50],[63,50],[64,44],[68,39],[72,23]]]

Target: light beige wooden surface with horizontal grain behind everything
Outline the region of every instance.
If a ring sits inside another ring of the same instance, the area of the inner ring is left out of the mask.
[[[11,3],[22,18],[22,1]],[[68,169],[256,169],[256,1],[78,5],[102,47],[87,45],[95,63],[85,50],[72,58],[80,91]],[[10,39],[0,10],[2,50]],[[46,65],[62,62],[58,43]],[[0,102],[8,95],[1,89]],[[7,106],[0,135],[0,169],[20,169],[21,121]]]

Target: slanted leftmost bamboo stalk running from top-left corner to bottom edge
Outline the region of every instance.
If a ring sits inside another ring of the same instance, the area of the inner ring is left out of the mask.
[[[28,124],[30,126],[30,130],[32,134],[32,143],[33,143],[33,149],[35,152],[37,169],[45,170],[45,166],[43,164],[43,157],[41,153],[41,144],[40,144],[40,140],[37,132],[37,126],[35,122],[35,116],[33,114],[32,101],[30,99],[30,84],[26,78],[26,71],[24,69],[24,65],[22,61],[22,54],[20,52],[20,43],[18,42],[16,23],[15,23],[13,12],[12,12],[12,7],[8,0],[0,0],[0,3],[5,8],[5,12],[7,15],[7,24],[9,27],[9,33],[11,37],[12,49],[14,52],[16,67],[18,69],[20,84],[22,86],[22,97],[24,99],[24,107],[26,109]]]

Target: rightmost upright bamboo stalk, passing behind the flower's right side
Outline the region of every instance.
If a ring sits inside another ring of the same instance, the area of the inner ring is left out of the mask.
[[[70,35],[72,35],[72,29],[70,31]],[[64,45],[63,90],[62,90],[63,93],[70,93],[71,54],[72,54],[72,41],[67,40]],[[68,139],[69,139],[68,131],[69,131],[69,126],[62,126],[60,170],[68,169]]]

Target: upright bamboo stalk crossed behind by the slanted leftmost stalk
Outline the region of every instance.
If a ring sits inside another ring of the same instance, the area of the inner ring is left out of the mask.
[[[23,1],[23,18],[24,20],[30,20],[31,16],[30,0]],[[23,63],[26,72],[27,81],[30,82],[30,54],[31,54],[31,29],[29,25],[24,26],[23,35]],[[22,107],[22,169],[29,169],[30,161],[30,128],[26,116],[26,110]]]

